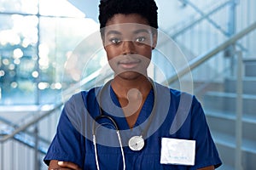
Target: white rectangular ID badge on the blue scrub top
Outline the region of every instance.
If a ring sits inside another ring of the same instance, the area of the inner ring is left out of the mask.
[[[195,165],[195,140],[162,138],[160,163]]]

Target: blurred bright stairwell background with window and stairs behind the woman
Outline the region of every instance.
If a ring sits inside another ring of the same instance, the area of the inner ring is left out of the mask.
[[[47,169],[43,157],[63,102],[93,87],[107,62],[98,52],[83,74],[66,67],[79,43],[99,29],[98,3],[0,0],[1,170]],[[156,3],[160,31],[177,43],[187,60],[175,69],[158,60],[161,53],[154,51],[153,60],[167,72],[168,86],[180,89],[180,82],[188,82],[183,89],[201,101],[224,163],[219,169],[255,168],[256,1]],[[170,50],[161,47],[164,43],[158,48]],[[152,77],[161,81],[157,68],[152,69]]]

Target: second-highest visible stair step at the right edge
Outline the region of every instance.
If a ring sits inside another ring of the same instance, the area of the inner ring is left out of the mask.
[[[244,94],[256,94],[256,77],[243,77]],[[227,93],[236,93],[236,78],[230,77],[225,79],[224,91]]]

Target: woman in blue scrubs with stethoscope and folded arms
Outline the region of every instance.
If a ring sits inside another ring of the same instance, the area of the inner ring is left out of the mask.
[[[219,167],[200,103],[148,78],[157,43],[154,0],[106,0],[99,7],[102,42],[114,78],[65,104],[44,158],[49,169]],[[170,133],[181,105],[189,105],[189,110]]]

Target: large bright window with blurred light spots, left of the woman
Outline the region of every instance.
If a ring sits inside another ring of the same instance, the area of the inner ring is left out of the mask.
[[[0,105],[60,101],[67,57],[97,23],[66,0],[3,0],[0,22]]]

